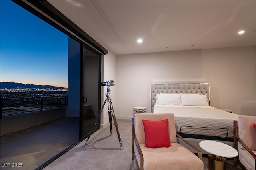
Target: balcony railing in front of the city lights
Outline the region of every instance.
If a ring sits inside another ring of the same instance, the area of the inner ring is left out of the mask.
[[[1,119],[3,119],[10,115],[67,107],[68,96],[57,95],[46,97],[0,99],[0,104]]]

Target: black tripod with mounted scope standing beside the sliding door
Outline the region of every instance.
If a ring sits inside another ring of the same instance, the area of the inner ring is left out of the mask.
[[[101,113],[103,111],[103,108],[104,108],[106,102],[108,102],[108,119],[109,119],[109,123],[110,123],[110,136],[112,136],[112,117],[113,117],[114,125],[116,127],[116,132],[117,132],[117,135],[118,135],[119,144],[120,144],[120,147],[121,147],[120,149],[122,150],[123,146],[122,146],[122,141],[121,141],[121,138],[120,138],[118,127],[117,127],[118,123],[116,121],[116,116],[115,116],[115,113],[114,113],[114,109],[113,109],[113,105],[112,105],[112,100],[110,99],[110,88],[109,88],[109,86],[115,85],[114,81],[113,80],[106,81],[106,82],[100,83],[100,85],[102,85],[102,86],[106,85],[107,86],[107,93],[105,94],[106,95],[106,99],[105,99],[105,101],[104,101],[104,103],[102,105],[102,108],[100,109],[100,113],[98,114],[98,117],[97,117],[97,119],[96,119],[96,121],[95,121],[95,123],[94,123],[94,125],[92,127],[92,130],[90,131],[90,134],[89,134],[87,140],[85,141],[84,147],[86,147],[86,145],[88,143],[88,140],[89,140],[89,138],[90,138],[90,136],[92,134],[92,131],[93,131],[95,125],[97,124],[98,119],[99,119],[99,117],[100,117],[100,115],[101,115]]]

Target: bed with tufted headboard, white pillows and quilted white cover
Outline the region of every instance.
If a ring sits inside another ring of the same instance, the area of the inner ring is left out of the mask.
[[[234,146],[238,115],[210,106],[210,84],[152,84],[151,113],[173,113],[176,132],[199,149],[202,140]]]

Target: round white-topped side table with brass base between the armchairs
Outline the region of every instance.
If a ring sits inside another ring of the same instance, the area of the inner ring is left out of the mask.
[[[209,170],[225,170],[226,158],[234,158],[238,155],[235,148],[213,140],[203,140],[199,146],[209,153]]]

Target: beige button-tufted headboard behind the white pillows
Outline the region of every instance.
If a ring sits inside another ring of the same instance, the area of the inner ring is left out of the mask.
[[[192,84],[151,84],[151,113],[153,113],[156,102],[156,94],[159,93],[199,93],[206,94],[210,101],[210,84],[209,83],[192,83]]]

